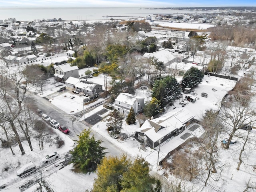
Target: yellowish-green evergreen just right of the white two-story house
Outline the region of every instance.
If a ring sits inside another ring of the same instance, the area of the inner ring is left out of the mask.
[[[145,105],[143,110],[144,110],[144,114],[147,117],[151,117],[151,116],[156,116],[158,113],[160,113],[161,109],[162,108],[161,108],[160,100],[153,97],[151,101]]]

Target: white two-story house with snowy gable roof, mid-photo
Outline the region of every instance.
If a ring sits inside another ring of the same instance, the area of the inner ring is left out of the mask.
[[[129,93],[120,93],[115,100],[114,108],[126,116],[131,108],[135,113],[141,113],[144,108],[144,98]]]

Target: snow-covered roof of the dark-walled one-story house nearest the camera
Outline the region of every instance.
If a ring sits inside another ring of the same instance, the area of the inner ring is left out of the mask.
[[[194,117],[186,108],[176,108],[159,118],[146,120],[138,132],[144,133],[153,142],[157,142]]]

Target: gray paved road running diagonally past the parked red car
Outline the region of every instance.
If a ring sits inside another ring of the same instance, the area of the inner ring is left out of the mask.
[[[52,105],[51,102],[49,102],[48,100],[35,94],[33,94],[30,98],[33,100],[30,102],[34,102],[38,109],[49,115],[50,118],[57,120],[58,122],[60,122],[61,125],[67,125],[70,129],[70,134],[68,136],[72,140],[78,140],[77,135],[79,135],[84,129],[89,128],[88,126],[86,126],[86,124],[83,124],[82,122],[76,120],[75,116],[66,114],[66,112]],[[94,137],[97,140],[103,141],[102,146],[107,148],[107,155],[119,156],[120,154],[124,153],[124,151],[118,148],[118,146],[112,144],[97,132],[94,132],[92,130],[92,134],[94,134]]]

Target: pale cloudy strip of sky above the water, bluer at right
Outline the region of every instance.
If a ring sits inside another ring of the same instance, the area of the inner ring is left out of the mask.
[[[0,0],[0,7],[10,6],[83,6],[83,7],[200,7],[256,6],[256,0]]]

